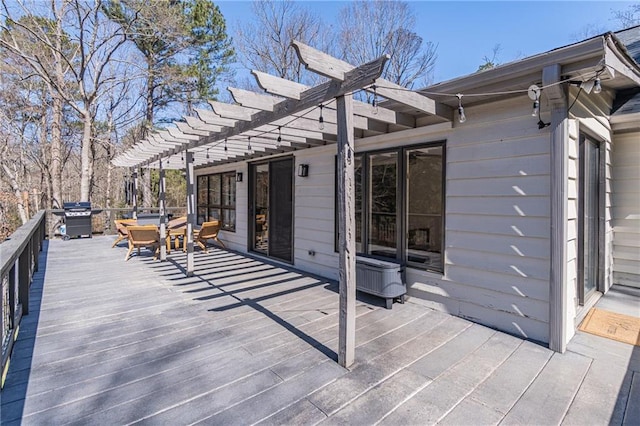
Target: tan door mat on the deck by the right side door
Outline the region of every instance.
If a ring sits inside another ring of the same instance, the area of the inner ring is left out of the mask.
[[[591,308],[578,329],[596,336],[640,346],[640,318]]]

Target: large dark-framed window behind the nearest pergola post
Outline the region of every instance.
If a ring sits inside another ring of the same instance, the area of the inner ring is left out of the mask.
[[[442,142],[356,156],[358,254],[443,272],[443,157]]]

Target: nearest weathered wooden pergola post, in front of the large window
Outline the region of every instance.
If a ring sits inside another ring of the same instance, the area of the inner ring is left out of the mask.
[[[355,359],[356,334],[356,242],[353,99],[336,98],[338,121],[338,249],[340,318],[338,363],[348,368]]]

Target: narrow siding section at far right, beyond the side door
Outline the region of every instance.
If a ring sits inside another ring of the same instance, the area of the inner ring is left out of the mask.
[[[612,167],[613,281],[640,287],[640,132],[614,137]]]

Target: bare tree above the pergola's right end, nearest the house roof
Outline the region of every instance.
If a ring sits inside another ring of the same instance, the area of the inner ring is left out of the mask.
[[[436,45],[415,33],[409,3],[356,1],[340,11],[340,51],[347,62],[362,64],[391,55],[383,77],[404,87],[433,79]]]

